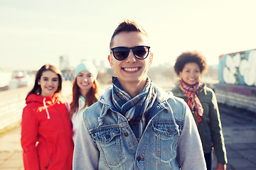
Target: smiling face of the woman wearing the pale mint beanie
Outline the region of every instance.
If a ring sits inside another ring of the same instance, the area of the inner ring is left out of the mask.
[[[80,93],[85,97],[88,91],[92,88],[92,84],[95,81],[95,78],[88,71],[82,71],[78,73],[77,84],[80,88]]]

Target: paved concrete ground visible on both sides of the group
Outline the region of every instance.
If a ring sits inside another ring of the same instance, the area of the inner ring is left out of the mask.
[[[220,106],[228,170],[256,169],[256,117],[247,111]],[[0,136],[0,170],[22,170],[21,128]],[[215,169],[215,160],[212,169]]]

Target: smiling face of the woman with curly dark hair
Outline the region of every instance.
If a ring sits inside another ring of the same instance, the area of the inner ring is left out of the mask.
[[[196,62],[188,62],[184,65],[179,76],[188,86],[193,86],[199,81],[201,76],[200,68]]]

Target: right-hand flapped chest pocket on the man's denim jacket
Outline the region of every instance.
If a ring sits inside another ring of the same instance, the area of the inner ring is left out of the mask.
[[[176,157],[178,132],[173,123],[153,123],[155,154],[161,162],[171,162]]]

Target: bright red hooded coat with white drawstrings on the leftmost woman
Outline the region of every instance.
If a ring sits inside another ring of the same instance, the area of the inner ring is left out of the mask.
[[[71,170],[73,131],[68,108],[58,94],[52,98],[31,94],[21,120],[21,147],[25,170]]]

